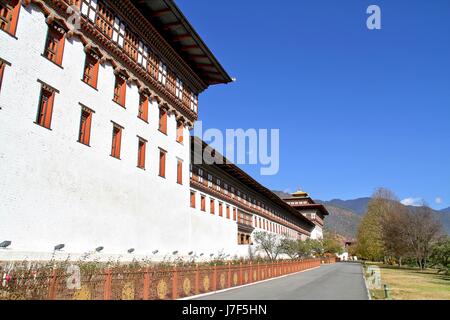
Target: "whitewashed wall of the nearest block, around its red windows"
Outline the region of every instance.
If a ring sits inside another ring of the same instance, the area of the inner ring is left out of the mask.
[[[44,254],[60,243],[80,254],[98,246],[105,255],[129,248],[140,254],[188,252],[189,143],[175,141],[174,116],[167,136],[157,129],[156,103],[150,105],[149,124],[139,120],[135,85],[127,88],[126,109],[120,107],[112,101],[110,65],[100,67],[94,90],[81,81],[81,42],[66,41],[60,68],[41,56],[46,34],[44,15],[34,6],[21,8],[17,39],[0,32],[0,57],[11,63],[0,93],[0,242],[13,242],[0,255]],[[34,123],[38,79],[60,91],[52,130]],[[91,147],[77,142],[79,103],[95,111]],[[125,128],[121,160],[110,156],[111,121]],[[184,134],[189,141],[187,128]],[[137,135],[148,140],[145,171],[137,168]],[[158,147],[168,151],[166,179],[158,176]],[[183,186],[176,183],[177,157],[184,160]]]

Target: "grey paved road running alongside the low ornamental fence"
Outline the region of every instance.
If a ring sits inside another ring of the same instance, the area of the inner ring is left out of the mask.
[[[281,279],[233,289],[198,300],[367,300],[362,267],[324,265]]]

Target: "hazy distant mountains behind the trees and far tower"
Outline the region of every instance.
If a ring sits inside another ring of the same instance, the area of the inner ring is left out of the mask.
[[[280,198],[288,198],[291,195],[274,191]],[[340,234],[350,239],[356,238],[358,226],[367,211],[371,198],[358,198],[353,200],[333,199],[330,201],[315,200],[323,204],[330,215],[325,218],[325,229]],[[410,207],[413,208],[414,207]],[[444,231],[450,235],[450,208],[434,211],[444,226]]]

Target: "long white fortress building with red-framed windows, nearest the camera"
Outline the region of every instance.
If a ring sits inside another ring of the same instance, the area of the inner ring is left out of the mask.
[[[237,166],[191,164],[199,94],[230,82],[172,0],[0,1],[0,260],[319,234]]]

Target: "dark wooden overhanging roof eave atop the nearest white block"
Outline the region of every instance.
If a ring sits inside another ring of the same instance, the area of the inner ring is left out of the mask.
[[[131,2],[207,85],[232,82],[173,0]]]

